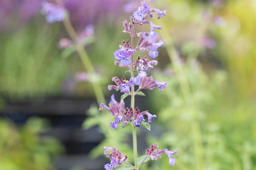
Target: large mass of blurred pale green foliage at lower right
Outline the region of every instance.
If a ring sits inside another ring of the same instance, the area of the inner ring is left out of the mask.
[[[240,99],[234,104],[235,94],[227,95],[223,71],[206,76],[200,65],[190,61],[181,68],[180,73],[171,66],[175,74],[168,79],[165,92],[150,97],[159,110],[155,121],[161,135],[149,137],[149,143],[178,150],[175,169],[255,168],[255,138],[250,128],[255,106]],[[162,100],[155,100],[160,95]],[[159,161],[150,169],[169,167],[166,158]]]

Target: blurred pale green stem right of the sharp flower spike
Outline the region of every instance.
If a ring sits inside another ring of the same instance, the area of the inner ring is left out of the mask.
[[[187,80],[186,75],[183,70],[183,63],[181,63],[179,54],[173,45],[173,42],[170,38],[169,33],[166,30],[165,31],[163,30],[162,37],[164,39],[169,58],[172,61],[171,63],[173,65],[175,74],[179,81],[179,84],[181,87],[181,92],[183,94],[183,98],[185,101],[186,97],[191,96],[191,90],[190,90],[188,80]],[[195,52],[195,54],[197,54],[197,51]],[[194,116],[194,112],[195,112],[194,108],[195,108],[195,104],[193,103],[193,108],[192,108],[192,111],[193,111],[192,117],[193,118],[191,120],[191,131],[192,131],[193,140],[194,140],[196,169],[201,170],[201,169],[204,169],[203,144],[202,144],[202,140],[201,140],[201,130],[200,130],[199,122],[196,120],[196,118]]]

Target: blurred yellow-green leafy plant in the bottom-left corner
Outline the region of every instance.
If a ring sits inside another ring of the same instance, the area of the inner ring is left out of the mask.
[[[7,120],[0,120],[0,169],[46,170],[54,169],[51,157],[63,151],[62,146],[51,137],[40,137],[46,128],[42,119],[29,119],[17,128]]]

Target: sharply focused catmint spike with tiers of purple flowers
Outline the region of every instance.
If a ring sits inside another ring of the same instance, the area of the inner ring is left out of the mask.
[[[145,95],[141,90],[153,90],[155,87],[158,87],[160,91],[166,88],[166,82],[160,82],[154,80],[152,76],[147,76],[146,71],[154,68],[157,65],[156,60],[150,60],[150,58],[155,59],[159,53],[157,49],[164,45],[163,41],[156,41],[157,33],[156,29],[162,29],[160,26],[152,23],[148,18],[153,18],[154,14],[158,14],[157,19],[160,19],[162,16],[165,16],[166,10],[160,11],[159,9],[151,9],[146,3],[141,3],[141,6],[137,11],[133,13],[133,16],[130,17],[130,22],[123,23],[124,33],[129,34],[131,39],[122,41],[119,45],[119,49],[114,52],[115,65],[120,66],[121,68],[128,69],[130,71],[130,78],[117,78],[114,76],[112,81],[115,85],[109,85],[108,89],[115,89],[124,93],[121,96],[121,101],[117,102],[115,100],[114,94],[111,96],[109,106],[105,104],[100,104],[100,110],[106,109],[109,110],[113,116],[113,121],[110,122],[110,126],[114,128],[120,128],[125,126],[132,127],[132,141],[134,149],[134,165],[128,163],[127,156],[123,156],[119,150],[115,147],[104,147],[104,154],[110,158],[110,163],[105,164],[106,170],[111,170],[113,168],[119,168],[123,163],[127,164],[127,169],[136,169],[138,170],[142,163],[151,160],[156,160],[161,157],[162,153],[165,153],[169,157],[169,164],[173,166],[175,164],[175,158],[173,154],[176,154],[177,151],[168,151],[157,150],[158,144],[151,145],[145,152],[145,155],[137,158],[137,139],[136,139],[136,128],[145,127],[150,130],[150,123],[156,118],[156,115],[150,114],[149,111],[140,111],[139,108],[135,108],[135,96],[136,95]],[[150,32],[135,32],[135,28],[140,25],[148,24],[150,26]],[[135,38],[137,44],[135,44]],[[135,53],[137,51],[145,51],[150,58],[143,56],[137,56],[135,58]],[[135,76],[136,74],[136,76]],[[131,107],[125,107],[124,99],[127,96],[131,96]],[[130,168],[129,168],[130,167]]]

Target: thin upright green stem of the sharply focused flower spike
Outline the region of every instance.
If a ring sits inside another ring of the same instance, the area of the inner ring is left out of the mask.
[[[134,32],[135,32],[135,24],[132,27],[132,35],[131,35],[131,47],[134,47]],[[131,78],[134,78],[134,55],[131,54]],[[131,108],[134,110],[135,107],[135,93],[134,93],[134,84],[131,85]],[[139,170],[138,161],[137,161],[137,135],[136,135],[136,126],[132,126],[132,145],[134,147],[134,164],[135,170]]]

